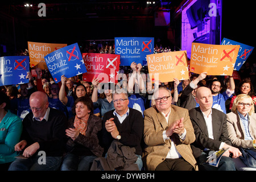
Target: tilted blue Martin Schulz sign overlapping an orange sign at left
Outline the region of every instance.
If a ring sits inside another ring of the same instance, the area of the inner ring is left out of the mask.
[[[56,83],[61,81],[61,75],[70,78],[87,72],[77,43],[57,49],[44,59]]]

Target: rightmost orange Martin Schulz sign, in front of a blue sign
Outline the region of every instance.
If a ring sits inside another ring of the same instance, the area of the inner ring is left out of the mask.
[[[190,71],[232,75],[240,46],[192,43]]]

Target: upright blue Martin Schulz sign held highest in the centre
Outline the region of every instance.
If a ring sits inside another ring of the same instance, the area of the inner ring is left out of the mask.
[[[154,38],[115,38],[115,54],[120,65],[130,66],[133,61],[144,65],[147,55],[154,53]]]

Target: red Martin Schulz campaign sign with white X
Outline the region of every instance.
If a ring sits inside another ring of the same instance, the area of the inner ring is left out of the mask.
[[[120,55],[109,53],[82,53],[87,72],[82,74],[83,80],[92,82],[97,77],[104,83],[117,83]]]

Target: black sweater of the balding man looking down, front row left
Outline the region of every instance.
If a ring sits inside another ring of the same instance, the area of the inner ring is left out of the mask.
[[[65,129],[68,120],[63,112],[50,108],[48,121],[33,120],[33,113],[23,119],[23,131],[20,140],[26,140],[27,146],[38,142],[39,150],[46,156],[62,156],[65,143]],[[38,155],[38,151],[34,155]]]

